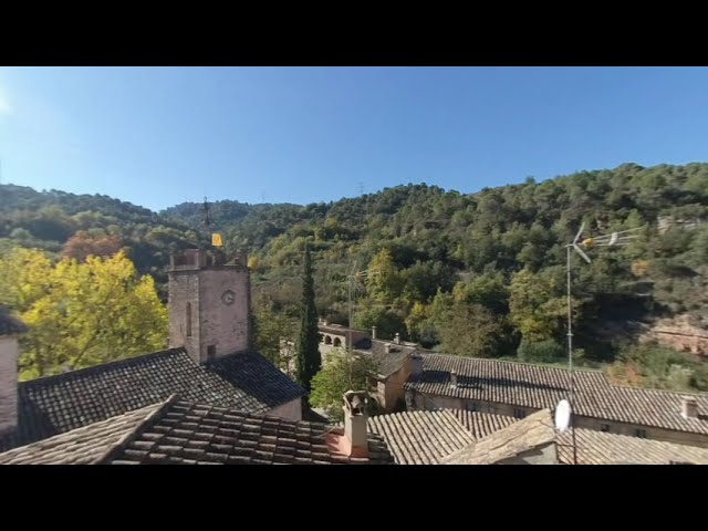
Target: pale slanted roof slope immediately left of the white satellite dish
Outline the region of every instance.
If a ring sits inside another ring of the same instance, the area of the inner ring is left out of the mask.
[[[444,465],[493,465],[555,442],[550,409],[529,415],[442,459]]]

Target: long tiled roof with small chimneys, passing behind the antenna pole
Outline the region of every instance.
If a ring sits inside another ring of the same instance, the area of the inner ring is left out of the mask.
[[[481,360],[445,354],[423,354],[424,372],[405,384],[429,395],[496,402],[534,409],[555,408],[568,398],[569,372],[561,367]],[[450,386],[450,371],[458,385]],[[579,415],[613,421],[708,435],[708,394],[674,393],[611,384],[598,371],[575,371],[575,408]],[[684,418],[681,399],[698,402],[699,418]]]

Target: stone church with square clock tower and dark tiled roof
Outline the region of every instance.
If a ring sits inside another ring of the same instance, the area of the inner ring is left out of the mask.
[[[88,368],[18,383],[19,323],[0,317],[0,449],[27,445],[174,394],[190,403],[298,421],[304,389],[251,347],[246,257],[214,263],[173,257],[169,345]],[[9,323],[9,324],[8,324]]]

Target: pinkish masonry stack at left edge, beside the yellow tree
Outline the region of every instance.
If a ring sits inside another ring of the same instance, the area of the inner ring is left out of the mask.
[[[0,305],[0,435],[18,427],[18,339],[24,332],[27,326]]]

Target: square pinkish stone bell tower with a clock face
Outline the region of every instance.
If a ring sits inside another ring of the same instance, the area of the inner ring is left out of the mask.
[[[246,252],[228,263],[204,249],[170,257],[169,346],[197,363],[243,352],[251,340],[251,287]]]

